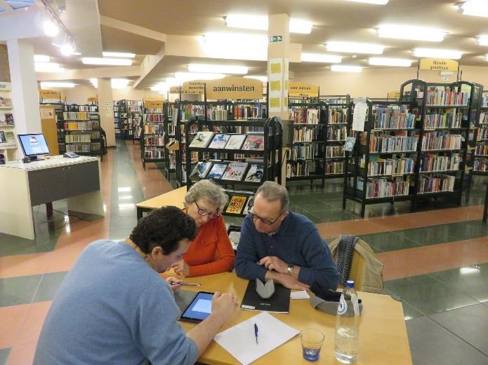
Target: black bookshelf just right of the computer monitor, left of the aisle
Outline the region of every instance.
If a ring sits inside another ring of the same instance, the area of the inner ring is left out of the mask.
[[[98,106],[70,104],[65,106],[65,110],[63,112],[65,151],[103,157]],[[60,125],[59,121],[58,125]]]

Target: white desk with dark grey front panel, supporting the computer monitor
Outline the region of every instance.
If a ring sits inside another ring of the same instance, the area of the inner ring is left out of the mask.
[[[32,207],[61,199],[69,211],[104,215],[100,158],[54,156],[0,165],[0,233],[34,240]]]

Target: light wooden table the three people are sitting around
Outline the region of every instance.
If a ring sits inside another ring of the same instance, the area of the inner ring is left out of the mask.
[[[183,287],[192,291],[224,291],[237,295],[242,301],[248,280],[237,277],[234,273],[191,277],[187,282],[199,282],[201,287]],[[407,329],[405,327],[402,303],[395,301],[390,296],[359,293],[364,305],[360,322],[360,350],[357,365],[411,365],[411,355]],[[222,331],[249,319],[258,312],[237,309],[230,322],[225,324]],[[336,317],[315,310],[308,300],[294,300],[290,303],[290,313],[279,315],[272,313],[274,317],[289,324],[295,329],[302,330],[310,327],[319,329],[325,335],[324,345],[316,364],[340,364],[334,358],[334,330]],[[188,331],[194,324],[180,322]],[[239,364],[232,355],[212,341],[209,347],[199,358],[206,364]],[[301,343],[298,336],[289,340],[284,345],[269,352],[253,364],[310,364],[302,357]]]

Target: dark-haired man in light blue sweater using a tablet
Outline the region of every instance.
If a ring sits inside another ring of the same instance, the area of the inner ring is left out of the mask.
[[[176,207],[154,210],[130,238],[98,240],[81,253],[44,322],[34,365],[194,364],[237,308],[216,293],[211,315],[185,333],[173,291],[163,280],[197,235],[193,219]]]

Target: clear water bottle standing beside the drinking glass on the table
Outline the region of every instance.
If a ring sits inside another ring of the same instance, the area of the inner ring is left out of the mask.
[[[360,305],[354,290],[354,282],[348,280],[337,308],[334,356],[343,364],[352,364],[357,359],[360,330]]]

